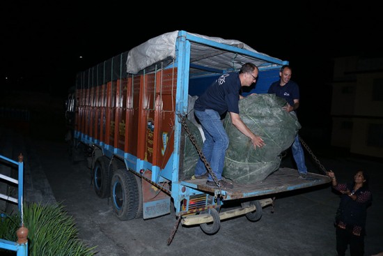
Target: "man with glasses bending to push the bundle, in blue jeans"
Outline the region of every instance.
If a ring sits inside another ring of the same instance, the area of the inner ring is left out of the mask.
[[[194,114],[200,121],[205,142],[203,143],[203,155],[217,176],[218,184],[214,183],[212,176],[206,171],[205,164],[198,160],[194,176],[196,179],[208,177],[208,186],[220,186],[221,188],[233,188],[233,184],[222,177],[226,149],[228,149],[228,135],[221,122],[221,116],[228,112],[231,123],[241,133],[249,137],[254,148],[265,145],[262,138],[253,134],[240,118],[238,101],[242,86],[251,86],[258,77],[258,68],[253,63],[245,63],[239,73],[226,73],[208,87],[208,89],[194,103]]]

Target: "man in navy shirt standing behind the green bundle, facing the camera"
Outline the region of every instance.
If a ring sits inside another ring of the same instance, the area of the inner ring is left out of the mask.
[[[281,67],[279,71],[280,80],[273,82],[267,93],[275,93],[276,96],[284,98],[287,101],[287,104],[283,106],[283,109],[290,114],[294,114],[295,110],[299,107],[299,86],[294,81],[291,81],[291,68],[288,65]],[[297,169],[300,179],[306,179],[307,167],[304,161],[304,151],[302,149],[301,142],[299,142],[299,136],[295,136],[295,140],[291,146],[292,157],[297,163]]]

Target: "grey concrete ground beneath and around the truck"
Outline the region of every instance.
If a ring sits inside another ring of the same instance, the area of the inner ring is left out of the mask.
[[[56,140],[19,135],[0,126],[0,154],[17,159],[24,155],[25,199],[52,204],[60,202],[75,218],[79,236],[97,256],[122,255],[300,255],[335,256],[334,214],[339,197],[329,184],[275,195],[274,209],[252,223],[245,216],[221,222],[219,232],[207,235],[200,227],[178,229],[168,246],[176,219],[173,213],[150,220],[121,222],[114,217],[109,199],[100,199],[91,186],[85,162],[73,163],[63,135]],[[313,150],[315,153],[315,150]],[[350,181],[358,169],[370,174],[373,204],[368,209],[366,254],[383,251],[383,163],[340,155],[338,151],[316,156],[338,181]],[[283,159],[290,167],[289,155]],[[310,172],[322,174],[315,160],[306,156]],[[223,209],[224,210],[224,209]],[[347,254],[349,252],[347,251]]]

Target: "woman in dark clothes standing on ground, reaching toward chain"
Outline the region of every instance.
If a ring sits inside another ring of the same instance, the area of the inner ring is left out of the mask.
[[[339,216],[336,221],[336,251],[338,256],[344,256],[350,244],[350,255],[364,255],[364,235],[366,234],[367,208],[372,202],[368,189],[368,176],[359,170],[352,183],[338,183],[334,172],[327,172],[332,186],[341,195]]]

